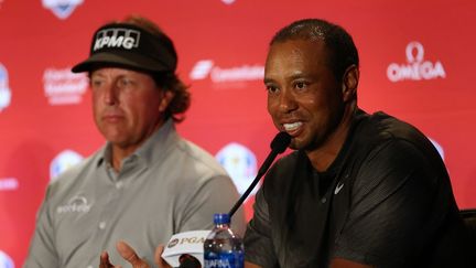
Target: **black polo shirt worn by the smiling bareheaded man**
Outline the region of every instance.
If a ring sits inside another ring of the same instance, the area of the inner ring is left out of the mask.
[[[262,267],[328,267],[334,257],[376,267],[475,267],[470,250],[437,151],[383,112],[357,114],[326,172],[302,151],[279,160],[245,235],[246,259]]]

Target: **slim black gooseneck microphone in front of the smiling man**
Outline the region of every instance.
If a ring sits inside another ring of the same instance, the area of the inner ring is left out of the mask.
[[[251,193],[256,184],[259,182],[262,175],[268,171],[271,163],[274,161],[275,157],[278,154],[284,152],[284,150],[288,148],[288,146],[291,142],[291,136],[285,132],[281,131],[279,132],[274,139],[271,141],[271,152],[268,154],[264,162],[261,164],[261,168],[258,170],[258,173],[255,178],[255,180],[251,182],[251,184],[248,186],[247,191],[241,195],[241,197],[235,203],[234,207],[229,211],[228,215],[231,218],[231,216],[235,214],[235,212],[238,210],[238,207],[245,202],[245,200],[248,197],[248,195]]]

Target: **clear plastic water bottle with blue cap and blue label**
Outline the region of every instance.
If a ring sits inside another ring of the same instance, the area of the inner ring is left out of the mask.
[[[244,268],[244,244],[230,229],[229,215],[215,214],[214,224],[204,243],[205,268]]]

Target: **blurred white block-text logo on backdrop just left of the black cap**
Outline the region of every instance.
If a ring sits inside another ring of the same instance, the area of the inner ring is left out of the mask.
[[[87,92],[88,78],[85,73],[72,73],[71,67],[46,68],[43,73],[43,86],[50,105],[79,104]]]

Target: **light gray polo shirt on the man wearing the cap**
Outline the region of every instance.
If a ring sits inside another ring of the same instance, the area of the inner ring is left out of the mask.
[[[203,149],[182,139],[169,120],[115,173],[110,144],[48,185],[36,218],[25,268],[98,267],[108,250],[129,267],[116,243],[129,243],[150,264],[159,244],[175,233],[210,229],[213,214],[228,212],[238,193],[226,171]],[[232,227],[242,234],[242,212]]]

